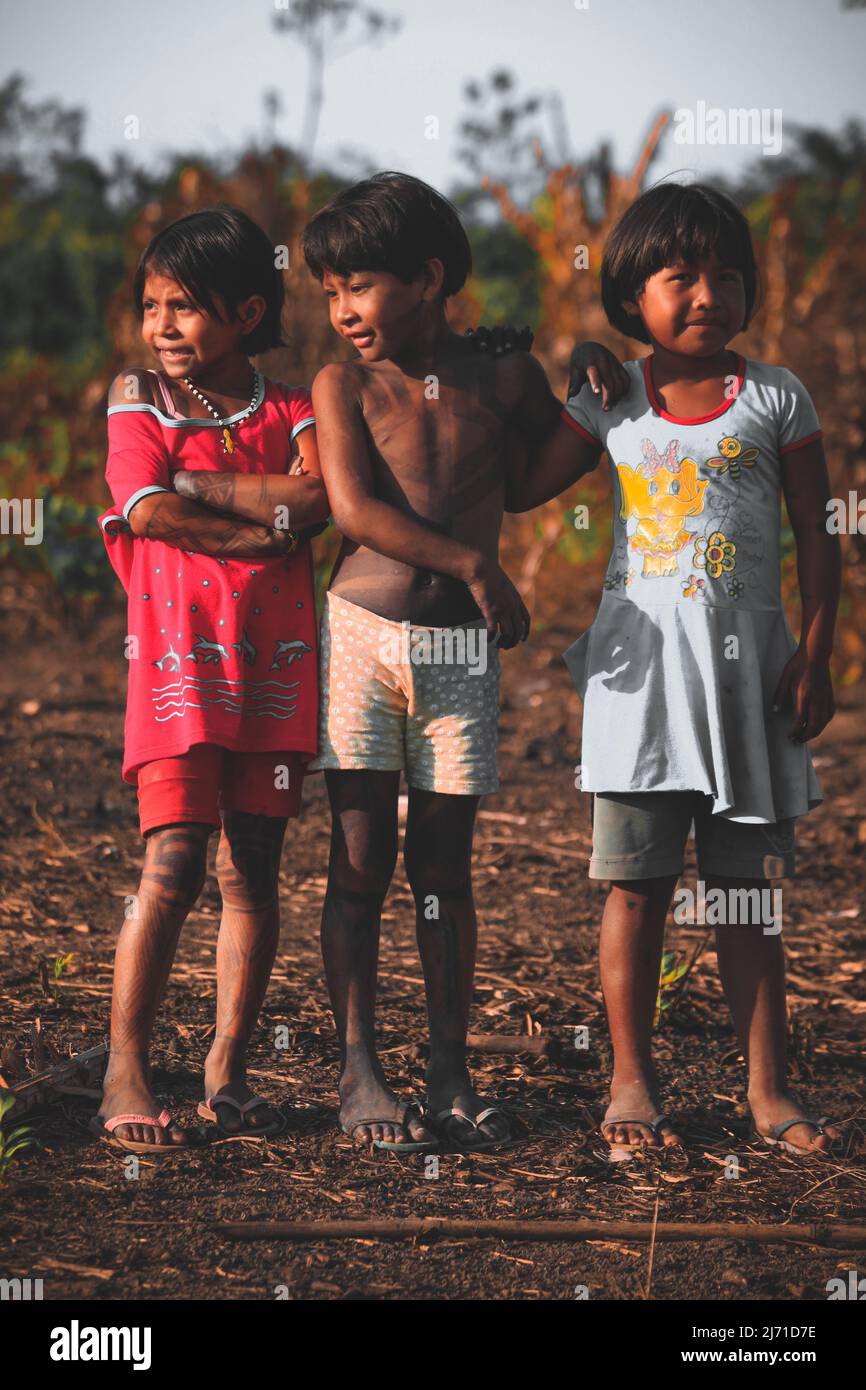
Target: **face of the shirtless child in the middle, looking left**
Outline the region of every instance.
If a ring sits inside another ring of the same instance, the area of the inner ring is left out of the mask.
[[[421,274],[409,284],[384,270],[353,275],[325,271],[322,289],[331,327],[359,350],[364,361],[399,357],[418,339],[431,317],[442,314],[442,271],[441,261],[427,261]]]

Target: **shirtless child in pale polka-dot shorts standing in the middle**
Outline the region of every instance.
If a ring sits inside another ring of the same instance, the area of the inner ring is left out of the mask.
[[[499,785],[499,648],[530,631],[498,563],[506,457],[518,435],[550,438],[562,403],[534,357],[487,357],[449,328],[445,303],[468,275],[470,247],[450,203],[418,179],[378,174],[338,195],[307,225],[303,249],[335,332],[359,353],[324,367],[313,386],[343,535],[322,616],[320,756],[310,764],[325,771],[334,817],[322,956],[342,1054],[341,1125],[356,1143],[400,1150],[489,1147],[509,1138],[509,1125],[477,1095],[466,1065],[471,849],[478,799]],[[421,660],[406,660],[430,628],[459,630],[466,662],[427,660],[423,646]],[[474,666],[470,637],[481,641]],[[375,1052],[402,770],[430,1118],[388,1087]]]

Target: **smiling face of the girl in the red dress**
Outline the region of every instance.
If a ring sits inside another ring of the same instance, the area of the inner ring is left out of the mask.
[[[236,357],[243,334],[260,321],[264,299],[253,295],[238,304],[238,317],[228,314],[214,296],[227,321],[197,309],[182,285],[168,275],[152,271],[145,281],[142,303],[142,338],[156,353],[167,377],[195,378],[206,368]]]

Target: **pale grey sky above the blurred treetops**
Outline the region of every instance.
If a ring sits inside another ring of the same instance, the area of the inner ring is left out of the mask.
[[[368,0],[366,0],[368,3]],[[510,68],[521,97],[559,92],[574,154],[601,138],[619,170],[663,107],[780,110],[784,122],[838,129],[865,110],[866,0],[374,0],[403,19],[396,38],[325,72],[317,156],[368,154],[445,192],[460,175],[463,85]],[[278,35],[281,0],[0,0],[0,78],[21,71],[29,101],[88,113],[85,149],[125,149],[153,165],[168,150],[218,153],[261,135],[261,93],[278,89],[277,135],[297,139],[307,64]],[[138,117],[139,139],[124,136]],[[436,117],[439,138],[425,138]],[[784,143],[783,143],[784,147]],[[653,178],[735,174],[742,145],[674,143]],[[345,167],[345,165],[343,165]]]

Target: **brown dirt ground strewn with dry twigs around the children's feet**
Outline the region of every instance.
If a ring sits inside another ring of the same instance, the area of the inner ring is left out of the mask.
[[[107,1037],[124,897],[142,862],[135,794],[120,780],[124,619],[85,630],[44,616],[32,592],[0,585],[0,1073],[8,1084]],[[500,774],[478,821],[480,960],[473,1029],[552,1037],[559,1055],[474,1055],[480,1088],[503,1102],[517,1140],[471,1158],[354,1151],[335,1125],[336,1048],[318,954],[327,803],[311,777],[282,862],[284,929],[250,1070],[285,1105],[289,1133],[268,1144],[211,1143],[171,1161],[124,1159],[90,1137],[96,1099],[68,1095],[31,1112],[42,1148],[15,1158],[0,1187],[0,1272],[42,1277],[46,1298],[272,1300],[484,1298],[826,1300],[858,1252],[741,1240],[514,1244],[352,1240],[239,1243],[214,1220],[459,1216],[605,1220],[862,1222],[866,1163],[781,1156],[746,1141],[742,1059],[723,1005],[712,938],[664,1016],[657,1059],[687,1148],[605,1162],[596,1131],[609,1047],[596,937],[603,885],[587,878],[588,798],[574,790],[580,702],[562,663],[573,628],[538,630],[505,657]],[[785,887],[795,1090],[863,1140],[862,705],[815,746],[827,801],[801,827],[801,867]],[[213,852],[213,851],[211,851]],[[211,865],[213,867],[213,865]],[[694,866],[691,867],[694,878]],[[213,1031],[215,881],[190,916],[156,1031],[156,1087],[195,1123]],[[669,929],[689,956],[705,930]],[[58,999],[44,966],[71,952]],[[589,1029],[575,1049],[574,1030]],[[279,1026],[288,1048],[278,1047]],[[411,898],[398,867],[384,922],[384,1062],[403,1091],[423,1088],[420,966]],[[726,1156],[740,1176],[726,1176]],[[860,1252],[860,1264],[862,1252]]]

